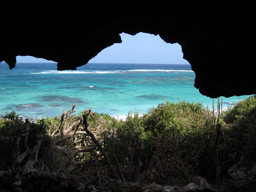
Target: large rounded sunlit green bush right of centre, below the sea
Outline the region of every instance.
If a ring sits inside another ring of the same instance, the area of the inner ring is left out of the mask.
[[[169,145],[169,151],[186,160],[200,151],[208,130],[207,111],[201,103],[164,101],[142,117],[145,130]]]

